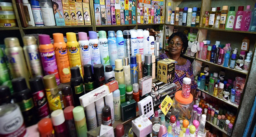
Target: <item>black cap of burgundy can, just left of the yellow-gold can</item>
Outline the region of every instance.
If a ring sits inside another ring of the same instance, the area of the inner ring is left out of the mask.
[[[29,80],[29,85],[32,93],[44,90],[44,84],[41,77],[35,77]]]

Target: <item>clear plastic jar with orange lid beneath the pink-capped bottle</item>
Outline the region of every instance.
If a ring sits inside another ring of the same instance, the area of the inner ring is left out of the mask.
[[[173,98],[172,115],[174,115],[177,120],[187,119],[189,121],[191,119],[193,105],[192,94],[190,94],[188,98],[184,98],[182,97],[182,91],[177,91]]]

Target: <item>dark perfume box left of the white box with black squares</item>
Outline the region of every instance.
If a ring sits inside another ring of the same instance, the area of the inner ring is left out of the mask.
[[[136,117],[136,101],[134,99],[121,104],[121,119],[127,121]]]

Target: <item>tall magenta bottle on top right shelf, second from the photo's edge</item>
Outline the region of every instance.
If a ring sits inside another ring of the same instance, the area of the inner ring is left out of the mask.
[[[243,12],[243,18],[241,21],[241,31],[249,30],[251,16],[252,10],[250,10],[250,5],[247,5],[246,10]]]

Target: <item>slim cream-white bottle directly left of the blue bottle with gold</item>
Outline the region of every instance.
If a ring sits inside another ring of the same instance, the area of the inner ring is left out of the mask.
[[[124,84],[130,85],[131,84],[131,68],[129,65],[128,57],[122,58],[122,68],[124,69]]]

